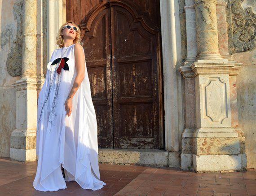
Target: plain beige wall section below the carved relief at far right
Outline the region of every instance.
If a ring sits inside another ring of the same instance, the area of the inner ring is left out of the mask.
[[[247,167],[256,168],[256,49],[235,53],[233,58],[243,62],[237,76],[238,122],[245,136]]]

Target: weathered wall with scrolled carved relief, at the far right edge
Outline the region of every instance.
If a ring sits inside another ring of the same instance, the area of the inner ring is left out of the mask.
[[[247,167],[256,166],[256,1],[227,0],[229,49],[243,63],[237,76],[238,122],[245,134]]]

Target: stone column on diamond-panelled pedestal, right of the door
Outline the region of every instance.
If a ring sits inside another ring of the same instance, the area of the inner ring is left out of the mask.
[[[216,0],[195,0],[195,10],[198,55],[190,65],[196,97],[193,167],[199,172],[242,170],[230,106],[230,74],[238,64],[219,54]]]

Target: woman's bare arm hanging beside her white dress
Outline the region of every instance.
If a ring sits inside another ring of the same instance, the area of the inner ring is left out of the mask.
[[[85,63],[84,63],[84,48],[80,44],[75,44],[74,46],[74,53],[75,53],[75,69],[76,69],[76,77],[73,83],[73,87],[69,93],[68,96],[73,98],[76,91],[78,90],[79,86],[83,82],[84,79],[84,72],[85,72]],[[65,110],[66,114],[70,116],[72,111],[72,99],[70,97],[67,97],[67,100],[65,102]]]

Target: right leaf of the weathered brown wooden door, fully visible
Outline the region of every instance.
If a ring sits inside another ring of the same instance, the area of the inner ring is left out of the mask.
[[[114,148],[159,148],[156,37],[127,9],[110,9]]]

